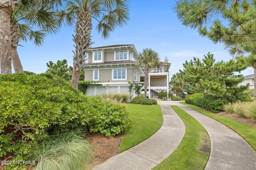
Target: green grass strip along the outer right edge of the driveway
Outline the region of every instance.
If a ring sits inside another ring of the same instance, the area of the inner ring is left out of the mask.
[[[216,121],[219,121],[220,123],[226,125],[236,133],[238,133],[244,140],[246,140],[254,150],[256,150],[256,128],[252,127],[250,125],[247,125],[245,123],[241,123],[239,121],[236,121],[234,119],[222,116],[222,115],[217,115],[215,113],[212,113],[210,111],[206,111],[200,107],[186,104],[185,102],[180,102],[181,104],[188,106],[200,113],[203,113],[204,115],[207,115],[211,117],[212,119],[215,119]]]

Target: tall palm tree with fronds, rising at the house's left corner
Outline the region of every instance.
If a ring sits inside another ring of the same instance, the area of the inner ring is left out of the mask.
[[[75,51],[73,51],[73,74],[71,84],[78,87],[82,67],[86,62],[86,51],[92,45],[92,20],[98,23],[96,29],[104,39],[118,26],[126,25],[129,20],[127,0],[70,0],[64,10],[60,11],[59,24],[74,25],[76,35],[73,35]]]

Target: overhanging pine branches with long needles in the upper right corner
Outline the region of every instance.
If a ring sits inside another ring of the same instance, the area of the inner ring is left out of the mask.
[[[230,55],[253,67],[256,81],[256,0],[180,0],[175,10],[183,25],[223,43]]]

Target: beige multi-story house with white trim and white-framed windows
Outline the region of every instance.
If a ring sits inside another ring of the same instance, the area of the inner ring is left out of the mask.
[[[128,82],[140,82],[140,80],[143,80],[143,67],[140,68],[136,65],[138,53],[134,45],[94,47],[90,48],[87,54],[88,63],[84,65],[84,80],[99,82],[92,83],[87,88],[86,95],[96,96],[102,93],[129,93]],[[169,66],[164,65],[162,69],[152,70],[150,73],[150,76],[151,74],[153,76],[150,77],[151,89],[164,90],[167,87],[166,83],[168,84],[169,81],[167,67],[169,69],[170,64]],[[163,80],[157,79],[158,81],[156,83],[156,78],[159,76],[164,76],[162,77]],[[159,82],[163,84],[159,84]],[[164,88],[162,89],[162,87]],[[150,92],[148,93],[150,94]],[[132,96],[135,97],[135,92],[133,92]]]

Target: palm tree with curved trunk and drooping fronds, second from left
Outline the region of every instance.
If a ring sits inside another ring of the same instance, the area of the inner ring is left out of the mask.
[[[23,67],[17,52],[18,42],[33,41],[36,46],[40,46],[44,42],[46,34],[57,33],[58,26],[56,25],[56,15],[53,11],[55,5],[60,2],[50,0],[34,1],[30,0],[27,3],[17,4],[12,12],[11,17],[11,49],[12,49],[12,64],[15,72],[23,72]],[[22,21],[22,24],[19,23]],[[25,22],[25,24],[24,24]],[[40,31],[34,31],[36,26]]]

